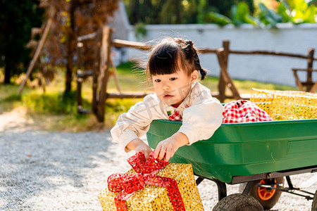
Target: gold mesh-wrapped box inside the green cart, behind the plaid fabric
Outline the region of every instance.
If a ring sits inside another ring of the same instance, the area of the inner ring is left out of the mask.
[[[317,94],[310,92],[252,89],[250,101],[265,110],[273,120],[317,118]]]

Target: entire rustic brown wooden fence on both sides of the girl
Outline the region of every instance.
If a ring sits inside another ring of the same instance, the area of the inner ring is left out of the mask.
[[[97,116],[99,122],[104,122],[105,105],[107,98],[143,98],[146,93],[132,92],[124,93],[120,91],[118,85],[118,78],[116,77],[116,67],[111,61],[111,47],[125,47],[134,48],[142,51],[149,51],[152,46],[145,43],[126,41],[121,39],[111,39],[112,29],[110,27],[102,27],[98,32],[87,34],[77,39],[77,53],[78,62],[81,63],[82,55],[80,54],[80,48],[85,44],[85,41],[95,39],[95,55],[94,55],[94,68],[93,70],[82,71],[80,65],[77,70],[77,111],[78,113],[94,113]],[[232,51],[230,50],[230,41],[223,41],[223,47],[217,49],[199,49],[200,53],[216,53],[218,63],[220,65],[220,77],[218,81],[218,92],[213,93],[213,96],[218,98],[221,102],[225,101],[226,98],[248,98],[248,96],[242,96],[228,73],[228,59],[230,54],[249,54],[249,55],[271,55],[271,56],[288,56],[294,58],[303,58],[307,60],[307,68],[293,68],[294,77],[297,80],[297,86],[299,90],[304,90],[306,87],[307,91],[316,91],[317,82],[312,81],[312,72],[316,71],[313,69],[313,60],[317,60],[313,57],[314,49],[309,49],[307,55],[294,54],[294,53],[283,53],[277,51]],[[110,70],[112,66],[112,71]],[[297,77],[297,71],[307,72],[306,82],[300,82]],[[116,85],[119,90],[118,93],[108,93],[107,84],[109,77],[113,75],[116,79]],[[82,82],[85,77],[93,77],[93,96],[92,96],[92,110],[85,110],[82,108]],[[225,89],[230,89],[232,95],[225,95]]]

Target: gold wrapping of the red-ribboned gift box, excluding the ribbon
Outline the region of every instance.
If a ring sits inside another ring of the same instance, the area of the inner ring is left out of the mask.
[[[134,170],[129,170],[127,174],[135,173]],[[170,163],[163,167],[156,175],[161,177],[169,177],[175,179],[178,183],[180,194],[185,205],[185,210],[199,211],[204,210],[199,196],[194,174],[191,164]],[[98,198],[101,203],[102,210],[116,210],[114,198],[118,193],[108,191],[106,188],[99,193]],[[133,195],[126,200],[128,210],[173,210],[173,205],[170,203],[168,191],[161,186],[145,185],[145,188],[135,191]]]

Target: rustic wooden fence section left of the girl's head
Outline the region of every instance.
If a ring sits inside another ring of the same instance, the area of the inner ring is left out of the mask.
[[[95,55],[93,70],[82,71],[81,65],[77,65],[77,112],[94,113],[99,122],[104,122],[105,106],[107,98],[143,98],[147,94],[144,92],[122,92],[118,84],[116,67],[111,60],[111,47],[130,47],[149,50],[151,47],[147,44],[136,43],[132,41],[111,39],[113,30],[110,27],[102,27],[98,32],[87,34],[77,38],[77,57],[78,64],[82,63],[80,49],[84,46],[85,41],[95,40]],[[112,66],[112,71],[110,67]],[[116,79],[118,93],[108,93],[107,85],[109,77],[113,75]],[[82,82],[86,77],[92,77],[92,109],[82,108]]]

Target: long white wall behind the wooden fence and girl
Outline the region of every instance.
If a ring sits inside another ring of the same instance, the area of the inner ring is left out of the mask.
[[[151,41],[162,37],[182,37],[191,39],[198,48],[218,48],[222,41],[230,40],[232,50],[263,50],[281,51],[306,55],[309,48],[317,51],[317,24],[290,25],[280,24],[278,29],[257,29],[252,25],[234,27],[227,25],[147,25],[147,35],[136,39],[132,26],[128,27],[128,40]],[[128,58],[144,57],[142,51],[128,49]],[[315,53],[317,57],[317,52]],[[145,57],[146,58],[146,57]],[[209,70],[209,75],[218,76],[220,68],[215,54],[200,56],[201,65]],[[235,55],[230,54],[228,71],[234,79],[251,79],[259,82],[272,82],[296,86],[291,68],[306,68],[304,59],[263,56],[263,55]],[[313,63],[317,68],[317,61]],[[302,80],[306,75],[299,75]],[[316,81],[317,74],[313,73]]]

